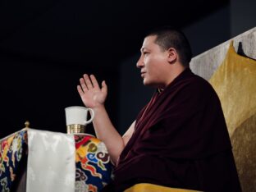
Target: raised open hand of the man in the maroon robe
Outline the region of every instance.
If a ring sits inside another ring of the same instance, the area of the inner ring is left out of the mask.
[[[105,81],[102,82],[102,88],[100,88],[94,75],[83,75],[83,78],[80,78],[80,85],[77,85],[77,90],[86,107],[99,107],[107,98]]]

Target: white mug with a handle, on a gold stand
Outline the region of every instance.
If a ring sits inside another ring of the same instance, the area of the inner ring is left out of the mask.
[[[88,112],[90,112],[90,119],[87,120]],[[81,106],[71,106],[65,108],[66,126],[82,126],[85,127],[94,119],[94,110]],[[69,132],[69,131],[68,131]],[[72,131],[73,132],[73,131]]]

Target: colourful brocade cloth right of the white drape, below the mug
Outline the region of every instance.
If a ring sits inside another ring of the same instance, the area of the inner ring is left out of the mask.
[[[112,172],[105,144],[92,135],[75,135],[75,149],[75,191],[102,190]]]

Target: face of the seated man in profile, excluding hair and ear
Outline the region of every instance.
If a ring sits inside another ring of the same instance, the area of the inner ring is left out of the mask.
[[[156,38],[156,35],[152,35],[144,39],[137,67],[140,69],[141,77],[144,79],[144,85],[164,88],[168,84],[168,53],[167,51],[162,51],[159,45],[154,43]]]

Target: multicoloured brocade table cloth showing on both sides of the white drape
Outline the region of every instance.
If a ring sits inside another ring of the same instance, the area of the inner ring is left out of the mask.
[[[27,158],[27,134],[24,129],[0,139],[0,192],[11,191],[21,159]],[[112,175],[112,163],[105,144],[93,135],[74,135],[74,139],[75,192],[102,190]]]

